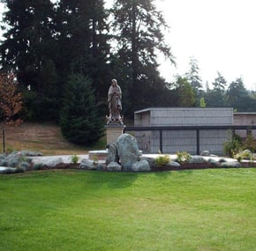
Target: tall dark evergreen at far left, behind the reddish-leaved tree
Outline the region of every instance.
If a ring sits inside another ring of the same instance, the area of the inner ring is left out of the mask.
[[[55,47],[51,31],[54,17],[49,0],[4,0],[8,28],[0,45],[1,68],[15,72],[24,96],[24,106],[34,119],[43,114],[49,119],[49,107],[57,107]],[[50,70],[52,75],[45,75]],[[49,78],[48,78],[49,77]]]

